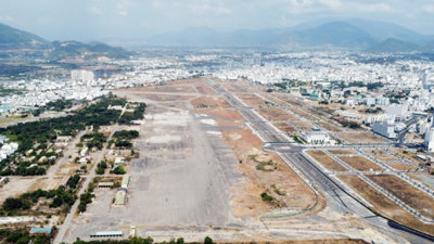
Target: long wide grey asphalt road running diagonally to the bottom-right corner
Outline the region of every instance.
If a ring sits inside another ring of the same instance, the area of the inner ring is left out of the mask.
[[[257,114],[253,112],[252,107],[247,107],[242,104],[237,98],[234,98],[233,94],[214,84],[210,79],[207,79],[207,81],[208,85],[210,85],[216,92],[222,94],[232,106],[239,108],[239,112],[244,116],[246,123],[254,127],[254,130],[260,134],[264,142],[285,142],[285,140],[282,139],[282,134],[277,132],[269,123],[264,120],[264,118],[258,117]],[[278,153],[286,163],[286,165],[289,165],[289,167],[295,167],[303,174],[302,177],[308,179],[311,184],[318,185],[328,197],[328,204],[335,204],[343,210],[347,210],[360,216],[372,226],[382,230],[383,233],[388,233],[391,236],[401,236],[405,240],[408,240],[410,243],[429,243],[429,241],[424,237],[404,230],[392,228],[386,219],[376,216],[362,204],[355,201],[347,192],[339,188],[329,176],[323,174],[302,155],[302,151],[304,150],[303,146],[291,145],[289,149],[288,145],[282,146],[282,144],[269,144],[267,147],[265,147],[265,150],[270,150]],[[400,242],[405,242],[405,240],[401,239]]]

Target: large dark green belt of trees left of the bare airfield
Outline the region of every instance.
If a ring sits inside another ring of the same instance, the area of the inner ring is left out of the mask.
[[[67,102],[62,102],[63,105]],[[62,104],[58,104],[62,106]],[[30,121],[25,124],[17,124],[8,128],[0,128],[0,133],[7,136],[11,141],[18,143],[18,150],[10,157],[0,162],[0,176],[33,176],[33,175],[44,175],[47,167],[41,167],[38,159],[42,156],[50,157],[54,153],[42,152],[39,155],[30,155],[33,159],[23,162],[22,156],[25,152],[34,149],[34,145],[39,143],[47,146],[47,143],[53,143],[58,136],[72,136],[75,137],[78,131],[84,130],[86,126],[93,126],[98,128],[103,125],[111,125],[119,119],[120,112],[116,110],[108,110],[110,105],[122,105],[126,104],[125,99],[119,99],[113,95],[101,98],[93,104],[86,106],[85,108],[75,112],[72,115],[59,118],[41,119],[39,121]],[[55,105],[55,104],[54,104]],[[55,105],[55,106],[58,106]],[[144,103],[137,106],[138,111],[135,114],[143,116]],[[136,117],[135,117],[136,118]],[[86,138],[90,137],[90,138]],[[102,149],[102,144],[105,142],[105,137],[94,132],[90,136],[86,136],[84,139],[89,139],[87,145],[89,147]],[[34,149],[34,151],[36,151]],[[55,159],[49,159],[42,165],[54,164]],[[16,168],[13,170],[15,165]],[[30,167],[31,166],[31,167]]]

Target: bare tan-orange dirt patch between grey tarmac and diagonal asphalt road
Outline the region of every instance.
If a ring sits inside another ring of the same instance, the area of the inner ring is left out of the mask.
[[[261,141],[250,130],[222,130],[222,134],[239,160],[237,170],[246,176],[231,189],[235,216],[258,217],[275,207],[305,209],[315,203],[314,192],[279,156],[264,152]],[[259,162],[269,160],[273,163],[271,170],[258,169]],[[264,202],[263,192],[276,201]]]

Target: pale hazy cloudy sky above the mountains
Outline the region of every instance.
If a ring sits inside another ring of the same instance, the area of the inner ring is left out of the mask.
[[[434,0],[0,0],[0,23],[49,40],[141,39],[199,26],[281,28],[336,17],[432,35]]]

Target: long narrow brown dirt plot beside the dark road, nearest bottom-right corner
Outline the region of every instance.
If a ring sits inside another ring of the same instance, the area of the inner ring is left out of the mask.
[[[395,204],[379,191],[373,189],[358,176],[339,176],[339,178],[354,189],[366,201],[372,204],[373,208],[388,218],[403,224],[417,229],[419,231],[434,234],[432,224],[420,222],[410,213],[406,211],[399,205]]]

